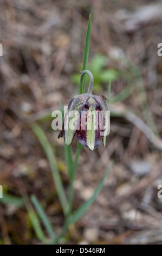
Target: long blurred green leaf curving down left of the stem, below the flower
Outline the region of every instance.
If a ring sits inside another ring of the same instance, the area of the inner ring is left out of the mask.
[[[68,205],[68,201],[66,198],[66,194],[63,189],[63,185],[62,185],[59,169],[57,168],[56,159],[55,159],[55,155],[53,153],[53,149],[51,148],[51,145],[48,142],[48,139],[47,139],[46,135],[44,134],[43,130],[41,129],[41,127],[39,125],[37,125],[36,123],[33,124],[31,127],[32,127],[33,131],[35,132],[35,135],[37,136],[38,140],[40,141],[42,148],[44,149],[44,152],[47,155],[47,158],[48,158],[48,161],[50,164],[50,168],[51,168],[51,173],[53,175],[55,187],[57,190],[57,194],[59,196],[60,203],[62,205],[64,214],[66,215],[69,211],[69,205]]]

